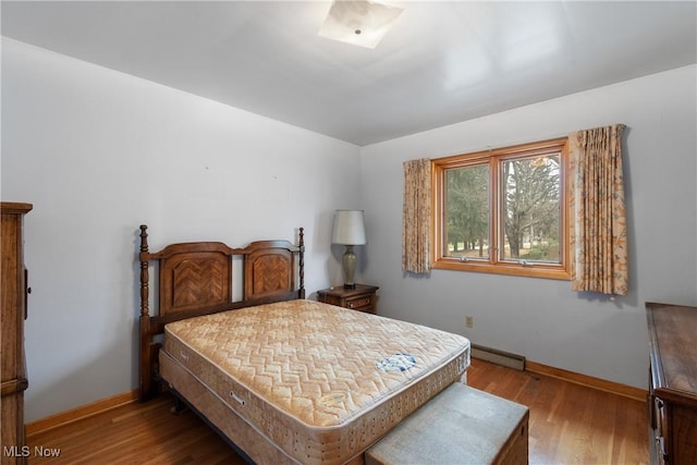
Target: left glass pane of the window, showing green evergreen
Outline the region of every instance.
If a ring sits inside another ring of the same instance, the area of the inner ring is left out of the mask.
[[[445,171],[442,254],[444,257],[489,258],[489,166]]]

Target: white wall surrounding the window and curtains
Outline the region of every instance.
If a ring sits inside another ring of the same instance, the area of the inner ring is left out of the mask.
[[[646,388],[646,301],[697,305],[696,66],[656,74],[362,149],[379,311],[541,364]],[[402,162],[624,123],[631,293],[614,302],[565,281],[401,271]],[[465,315],[474,328],[464,328]]]

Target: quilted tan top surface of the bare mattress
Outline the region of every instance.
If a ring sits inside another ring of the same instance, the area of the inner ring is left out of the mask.
[[[464,370],[468,348],[457,334],[304,299],[166,327],[176,358],[197,354],[315,428],[351,421],[456,357]]]

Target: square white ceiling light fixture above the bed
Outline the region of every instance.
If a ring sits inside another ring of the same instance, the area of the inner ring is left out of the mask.
[[[403,9],[368,0],[334,0],[319,35],[341,42],[376,48]]]

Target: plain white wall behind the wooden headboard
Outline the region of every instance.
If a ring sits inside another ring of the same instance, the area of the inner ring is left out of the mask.
[[[335,208],[359,148],[9,39],[3,200],[27,201],[26,420],[137,387],[138,225],[179,241],[294,240],[308,294],[340,279]]]

